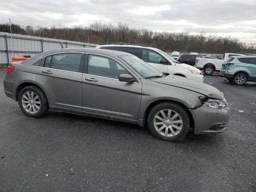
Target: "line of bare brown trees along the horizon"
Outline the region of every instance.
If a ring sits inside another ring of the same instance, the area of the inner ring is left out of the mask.
[[[256,44],[246,44],[237,38],[190,34],[189,32],[153,32],[148,29],[130,28],[128,24],[102,24],[93,22],[88,27],[66,27],[58,24],[50,28],[43,26],[21,26],[12,24],[12,33],[56,38],[94,44],[106,42],[124,42],[144,44],[159,48],[165,52],[198,52],[223,54],[252,53],[256,54]],[[0,32],[10,33],[10,24],[0,24]]]

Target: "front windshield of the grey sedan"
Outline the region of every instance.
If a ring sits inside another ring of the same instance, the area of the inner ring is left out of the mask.
[[[119,57],[136,70],[136,72],[138,72],[143,78],[163,75],[161,72],[134,55],[122,55]]]

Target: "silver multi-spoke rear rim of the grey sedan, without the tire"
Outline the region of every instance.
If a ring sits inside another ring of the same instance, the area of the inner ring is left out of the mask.
[[[26,112],[35,114],[40,109],[40,99],[33,91],[27,91],[22,95],[22,106]]]

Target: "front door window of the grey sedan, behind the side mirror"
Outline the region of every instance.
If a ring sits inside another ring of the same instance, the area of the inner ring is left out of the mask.
[[[118,79],[120,74],[129,74],[129,72],[113,59],[89,55],[88,74]]]

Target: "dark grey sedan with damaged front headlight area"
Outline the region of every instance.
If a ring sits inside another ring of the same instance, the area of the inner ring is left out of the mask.
[[[162,74],[140,58],[113,50],[67,48],[13,62],[5,94],[29,117],[49,109],[148,125],[154,136],[177,141],[220,133],[230,108],[218,89]]]

